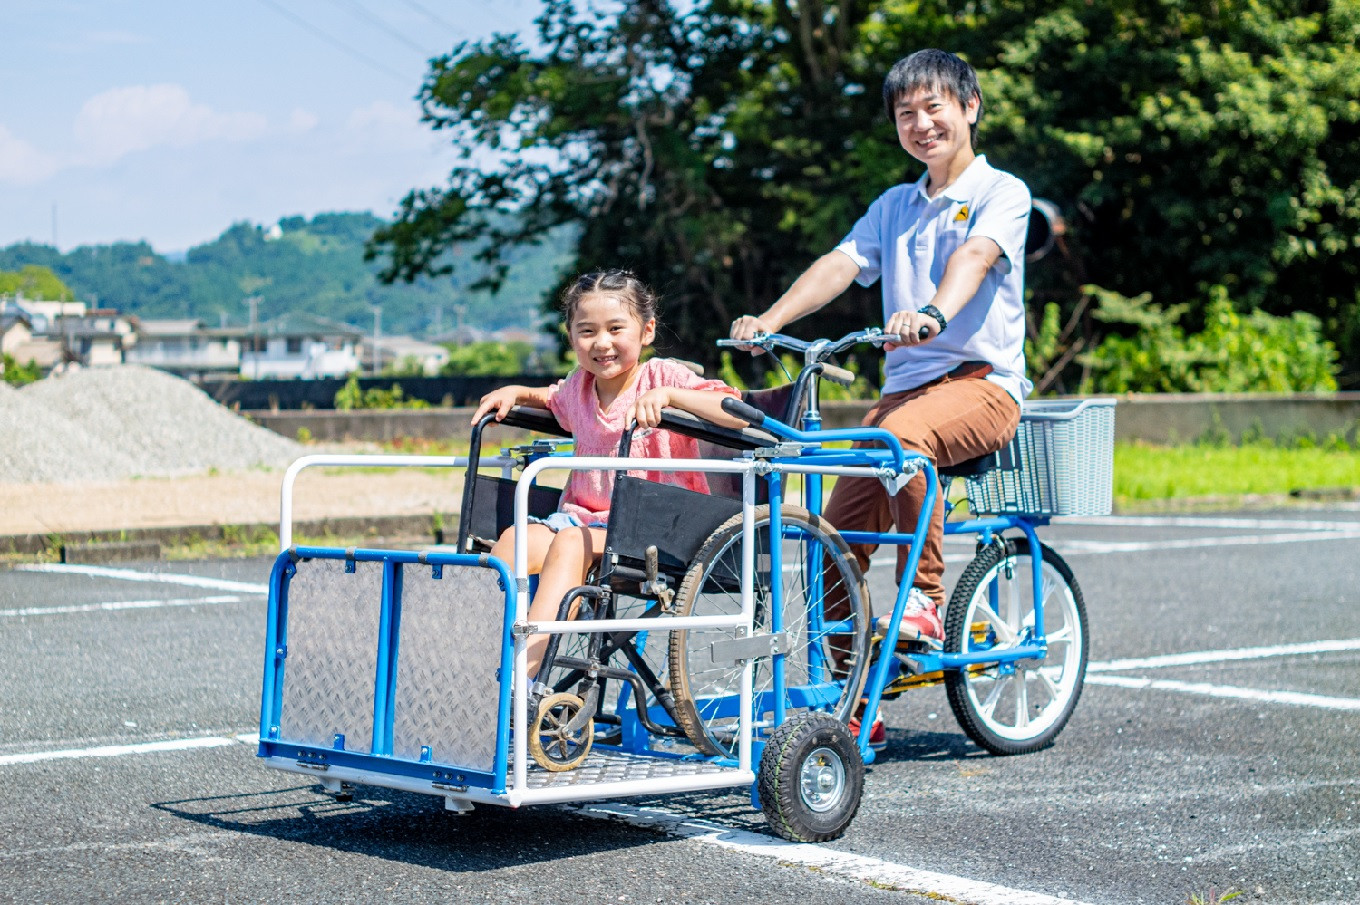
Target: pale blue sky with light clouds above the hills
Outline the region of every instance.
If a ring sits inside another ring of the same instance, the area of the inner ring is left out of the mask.
[[[439,185],[430,57],[539,0],[3,0],[0,246],[205,242]]]

